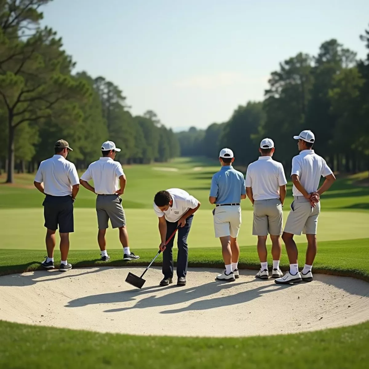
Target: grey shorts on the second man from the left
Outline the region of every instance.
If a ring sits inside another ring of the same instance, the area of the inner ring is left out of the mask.
[[[109,219],[113,228],[125,226],[122,199],[118,195],[97,195],[96,213],[99,230],[105,230],[109,227]]]

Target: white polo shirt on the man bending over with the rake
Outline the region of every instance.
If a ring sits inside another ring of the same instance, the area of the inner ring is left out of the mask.
[[[199,201],[184,190],[171,188],[167,191],[172,196],[173,205],[168,210],[161,211],[154,203],[154,211],[159,218],[165,216],[168,222],[174,223],[179,221],[182,215],[187,213],[190,208],[194,209],[199,204]]]

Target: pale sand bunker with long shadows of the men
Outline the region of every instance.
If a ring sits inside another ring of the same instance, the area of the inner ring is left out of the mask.
[[[314,275],[283,286],[242,270],[216,282],[218,270],[189,269],[187,286],[159,287],[150,269],[141,290],[124,282],[144,268],[37,271],[0,277],[0,320],[99,332],[182,336],[294,333],[361,323],[369,318],[369,283]],[[176,279],[175,279],[176,282]]]

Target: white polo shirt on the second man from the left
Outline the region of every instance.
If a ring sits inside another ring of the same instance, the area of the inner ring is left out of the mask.
[[[111,158],[100,158],[89,165],[81,179],[93,180],[95,193],[99,195],[114,195],[119,190],[119,177],[123,176],[121,163]]]

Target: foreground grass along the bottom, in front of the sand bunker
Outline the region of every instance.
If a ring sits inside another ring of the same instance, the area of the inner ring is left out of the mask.
[[[0,321],[0,367],[32,369],[54,363],[79,369],[260,369],[277,363],[280,368],[359,369],[368,367],[368,342],[369,322],[262,338],[184,338],[100,334]]]

